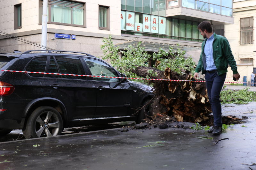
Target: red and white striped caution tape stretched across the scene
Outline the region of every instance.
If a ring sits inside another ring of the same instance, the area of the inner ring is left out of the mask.
[[[125,78],[125,79],[138,79],[138,80],[205,82],[205,81],[196,81],[196,80],[169,80],[169,79],[155,79],[155,78],[130,78],[130,77],[112,77],[112,76],[92,76],[92,75],[80,75],[80,74],[44,73],[44,72],[34,72],[34,71],[15,71],[15,70],[0,70],[0,71],[18,72],[18,73],[53,74],[53,75],[64,75],[64,76],[103,77],[103,78]],[[224,82],[224,83],[247,83],[247,82]],[[255,83],[247,83],[247,84],[255,84]]]

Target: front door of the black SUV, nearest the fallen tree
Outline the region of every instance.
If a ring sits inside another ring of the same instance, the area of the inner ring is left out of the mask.
[[[120,77],[107,63],[92,58],[83,58],[93,76]],[[128,115],[132,104],[132,88],[119,78],[93,77],[97,95],[97,109],[94,117]]]

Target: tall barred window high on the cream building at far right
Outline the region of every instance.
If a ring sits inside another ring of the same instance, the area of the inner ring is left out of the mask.
[[[240,18],[240,44],[253,44],[253,17]]]

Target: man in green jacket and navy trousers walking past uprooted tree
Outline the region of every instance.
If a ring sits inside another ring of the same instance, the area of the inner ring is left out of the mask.
[[[233,71],[233,78],[238,80],[240,75],[237,72],[236,61],[228,40],[213,33],[212,24],[209,21],[201,22],[197,29],[204,36],[204,41],[194,78],[198,77],[201,70],[202,74],[205,74],[206,89],[213,114],[213,127],[208,132],[213,135],[220,135],[222,132],[220,91],[228,72],[228,64]]]

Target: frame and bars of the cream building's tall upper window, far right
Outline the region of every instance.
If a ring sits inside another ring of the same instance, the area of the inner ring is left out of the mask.
[[[246,19],[246,18],[249,18],[249,26],[245,26],[244,25],[244,19]],[[254,20],[254,18],[253,17],[245,17],[245,18],[240,18],[240,45],[251,45],[251,44],[253,44],[253,20]],[[252,23],[251,23],[252,22]],[[244,27],[249,27],[249,29],[246,29],[246,28],[244,28]],[[248,38],[248,40],[249,41],[247,41],[247,42],[245,42],[245,37],[248,37],[248,35],[247,36],[244,36],[244,33],[245,32],[247,32],[247,31],[249,31],[249,38]]]

